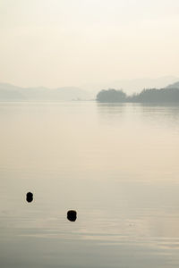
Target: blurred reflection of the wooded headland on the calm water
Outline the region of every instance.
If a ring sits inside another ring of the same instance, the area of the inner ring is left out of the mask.
[[[130,120],[139,120],[142,123],[151,125],[166,126],[166,128],[175,128],[179,122],[179,105],[178,104],[107,104],[98,103],[98,113],[107,120],[108,123],[115,120],[124,120],[130,117]],[[175,128],[176,130],[176,128]]]

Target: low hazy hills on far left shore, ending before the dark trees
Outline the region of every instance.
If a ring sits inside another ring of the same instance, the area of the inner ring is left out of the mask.
[[[0,83],[0,101],[71,101],[90,98],[90,93],[81,88],[21,88]]]

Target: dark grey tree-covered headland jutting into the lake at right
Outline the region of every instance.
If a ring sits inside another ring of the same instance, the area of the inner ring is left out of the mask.
[[[179,103],[179,82],[166,88],[143,89],[141,93],[128,96],[122,89],[109,88],[98,92],[101,103]]]

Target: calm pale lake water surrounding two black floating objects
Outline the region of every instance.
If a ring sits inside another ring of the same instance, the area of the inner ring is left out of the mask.
[[[179,106],[1,103],[0,130],[0,267],[179,266]]]

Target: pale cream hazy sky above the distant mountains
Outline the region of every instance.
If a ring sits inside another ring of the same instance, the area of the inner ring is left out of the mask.
[[[0,0],[0,81],[179,76],[178,0]]]

